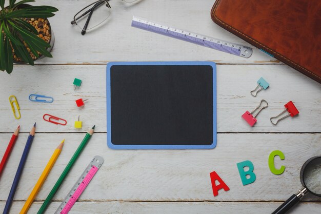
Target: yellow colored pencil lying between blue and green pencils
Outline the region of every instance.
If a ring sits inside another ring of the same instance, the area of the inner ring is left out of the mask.
[[[63,149],[64,146],[64,142],[65,140],[63,140],[58,147],[54,150],[50,160],[48,161],[48,164],[46,166],[46,168],[44,169],[43,173],[41,174],[40,178],[38,179],[36,185],[33,187],[30,196],[28,197],[24,207],[22,208],[22,210],[20,211],[20,214],[26,214],[28,212],[28,209],[30,208],[34,198],[36,197],[38,191],[40,190],[40,188],[42,187],[42,185],[44,184],[51,168],[53,167],[54,163],[56,162],[60,152]]]

